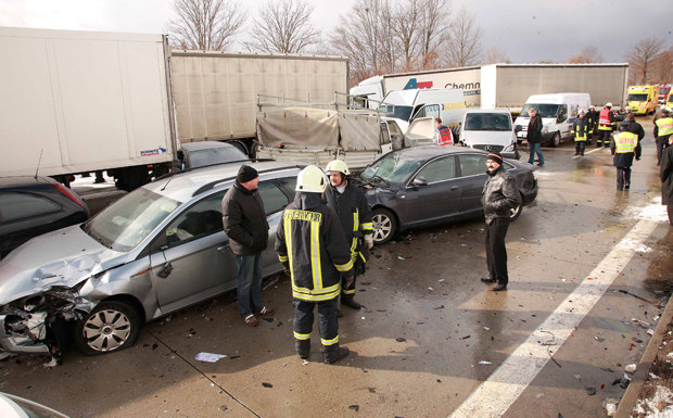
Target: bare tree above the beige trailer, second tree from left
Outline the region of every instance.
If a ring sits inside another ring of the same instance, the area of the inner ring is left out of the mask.
[[[245,47],[263,52],[303,52],[320,42],[320,30],[310,24],[313,11],[306,0],[267,0],[253,20],[252,41],[244,42]]]

